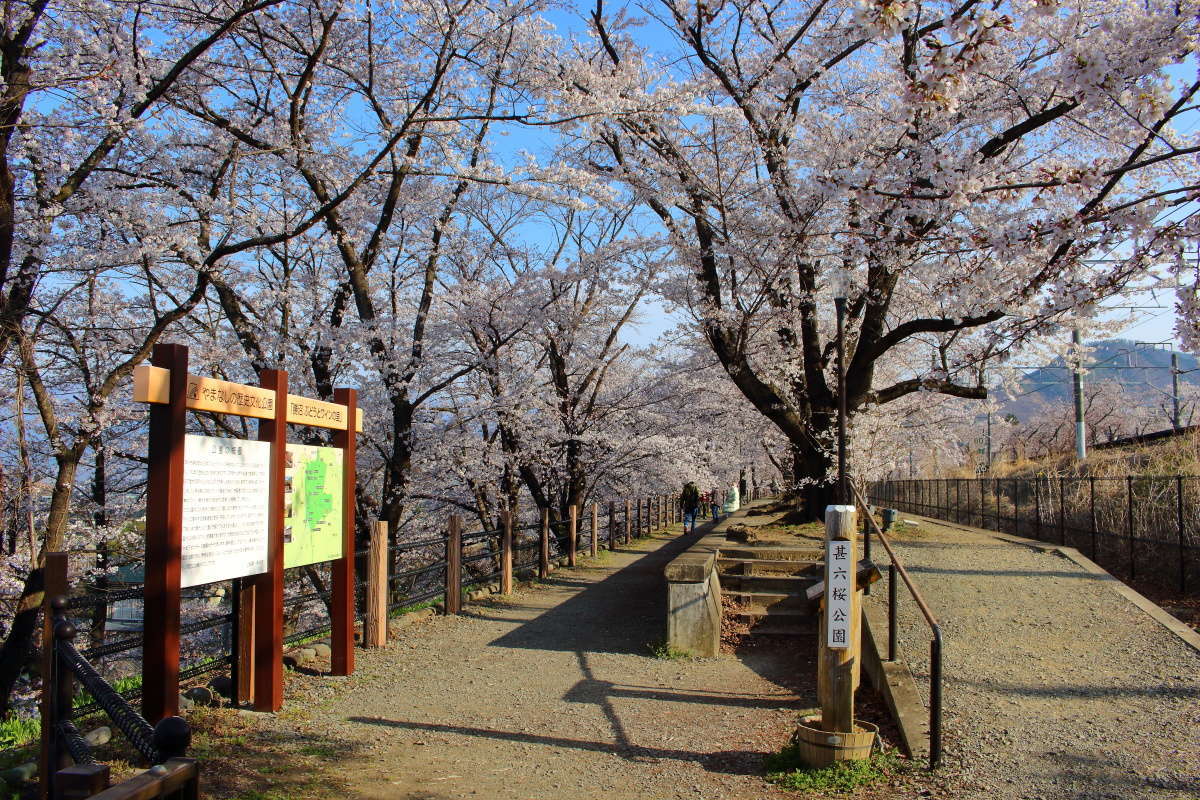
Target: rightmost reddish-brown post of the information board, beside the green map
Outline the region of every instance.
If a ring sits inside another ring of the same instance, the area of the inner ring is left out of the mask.
[[[346,407],[346,429],[334,434],[334,446],[342,449],[342,558],[330,564],[332,604],[330,607],[330,673],[349,675],[354,672],[354,473],[356,440],[355,421],[359,419],[359,393],[353,389],[335,389],[334,402]],[[282,539],[282,531],[281,531]],[[282,541],[280,566],[283,566]],[[281,593],[283,576],[280,575]],[[281,594],[282,597],[282,594]],[[280,619],[282,630],[282,615]],[[282,680],[282,666],[280,667]],[[280,687],[282,704],[283,690]]]

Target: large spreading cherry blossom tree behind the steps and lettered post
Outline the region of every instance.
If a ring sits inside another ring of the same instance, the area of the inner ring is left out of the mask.
[[[820,509],[833,297],[850,407],[983,398],[982,366],[1178,249],[1193,2],[598,2],[559,96],[577,162],[660,219],[678,281]],[[1114,248],[1123,246],[1114,255]],[[1099,259],[1099,255],[1110,255]],[[841,285],[839,285],[841,284]]]

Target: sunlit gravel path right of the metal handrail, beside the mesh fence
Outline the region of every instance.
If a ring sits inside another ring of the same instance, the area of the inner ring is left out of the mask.
[[[1056,553],[924,519],[898,546],[943,626],[956,796],[1200,796],[1200,654]],[[924,691],[929,628],[900,595]]]

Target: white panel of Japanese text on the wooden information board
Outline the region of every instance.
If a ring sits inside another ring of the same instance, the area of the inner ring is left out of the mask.
[[[266,572],[271,444],[184,438],[181,587]]]

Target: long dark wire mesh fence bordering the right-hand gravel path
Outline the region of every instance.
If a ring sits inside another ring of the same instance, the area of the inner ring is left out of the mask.
[[[1079,549],[1114,575],[1200,593],[1200,476],[878,481],[870,499],[910,513]]]

